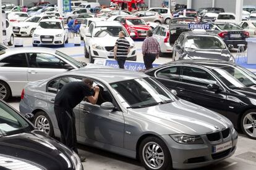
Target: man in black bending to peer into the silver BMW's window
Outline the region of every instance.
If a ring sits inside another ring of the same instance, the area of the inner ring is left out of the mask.
[[[93,91],[95,94],[93,95]],[[77,133],[75,129],[75,114],[73,108],[87,97],[90,103],[96,104],[100,88],[93,87],[92,79],[86,78],[82,81],[67,83],[54,100],[54,112],[58,121],[59,131],[61,131],[61,143],[74,150],[77,150]],[[84,161],[85,157],[80,156]]]

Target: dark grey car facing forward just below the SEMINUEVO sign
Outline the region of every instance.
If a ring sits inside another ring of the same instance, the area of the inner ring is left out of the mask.
[[[210,59],[234,62],[223,40],[215,33],[187,31],[180,34],[173,46],[173,60]]]

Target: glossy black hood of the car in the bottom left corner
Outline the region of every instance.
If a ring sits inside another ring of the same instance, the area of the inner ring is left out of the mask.
[[[0,169],[12,164],[27,169],[72,169],[71,155],[69,149],[37,130],[0,138],[0,160],[6,163],[0,164]]]

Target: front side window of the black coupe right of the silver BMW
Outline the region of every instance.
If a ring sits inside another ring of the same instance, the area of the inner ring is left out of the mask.
[[[215,78],[205,70],[195,67],[182,67],[181,81],[184,83],[194,84],[197,86],[207,87],[208,84],[216,84]]]

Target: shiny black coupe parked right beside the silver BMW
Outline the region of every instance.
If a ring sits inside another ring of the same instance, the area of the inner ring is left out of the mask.
[[[145,72],[177,96],[229,118],[256,139],[256,75],[230,62],[183,60]]]

